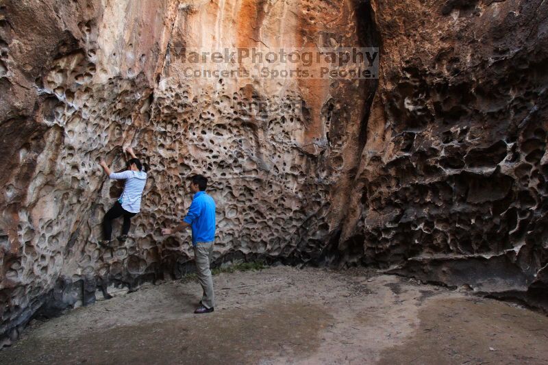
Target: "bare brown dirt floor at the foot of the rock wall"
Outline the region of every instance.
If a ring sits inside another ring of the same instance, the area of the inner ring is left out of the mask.
[[[364,269],[279,266],[196,281],[34,321],[0,364],[548,364],[548,317]]]

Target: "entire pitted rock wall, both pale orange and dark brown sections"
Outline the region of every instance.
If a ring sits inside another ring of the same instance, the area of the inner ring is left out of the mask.
[[[188,234],[160,229],[192,173],[212,181],[216,264],[366,264],[546,302],[547,3],[2,4],[5,343],[97,288],[185,273]],[[314,45],[380,46],[378,82],[182,77],[182,47]],[[150,177],[105,251],[121,186],[97,163],[121,168],[127,146]]]

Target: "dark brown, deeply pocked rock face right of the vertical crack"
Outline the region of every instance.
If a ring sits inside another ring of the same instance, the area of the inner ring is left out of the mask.
[[[548,309],[548,4],[372,3],[382,71],[335,257]]]

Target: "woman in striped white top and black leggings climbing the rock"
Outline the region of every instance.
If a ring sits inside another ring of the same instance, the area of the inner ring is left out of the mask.
[[[127,171],[122,173],[113,173],[106,162],[101,160],[101,167],[110,179],[125,180],[124,191],[121,197],[114,203],[114,206],[105,214],[103,219],[103,240],[99,244],[103,247],[112,248],[110,236],[112,235],[112,220],[124,216],[122,226],[122,235],[118,237],[120,242],[127,240],[127,232],[131,219],[135,216],[141,207],[142,190],[147,184],[147,173],[144,171],[141,162],[136,157],[133,149],[129,147],[127,152],[132,156],[131,160],[126,162]]]

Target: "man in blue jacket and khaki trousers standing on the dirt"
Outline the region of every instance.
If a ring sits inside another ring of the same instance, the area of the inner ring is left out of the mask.
[[[202,175],[194,175],[190,181],[190,192],[194,194],[192,204],[184,220],[173,228],[162,229],[162,234],[170,235],[180,232],[186,227],[192,228],[192,246],[194,247],[198,280],[203,289],[200,307],[195,313],[213,312],[214,294],[211,277],[210,261],[215,240],[215,201],[206,194],[208,179]]]

